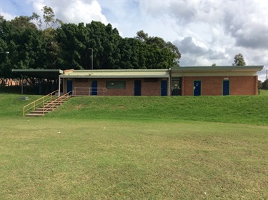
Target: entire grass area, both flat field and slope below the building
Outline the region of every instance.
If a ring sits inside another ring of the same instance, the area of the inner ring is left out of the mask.
[[[19,97],[0,94],[0,199],[268,199],[267,95],[76,97],[40,118]]]

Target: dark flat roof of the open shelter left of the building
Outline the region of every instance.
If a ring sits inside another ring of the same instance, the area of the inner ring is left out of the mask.
[[[12,69],[12,72],[41,79],[58,79],[64,73],[61,69]]]

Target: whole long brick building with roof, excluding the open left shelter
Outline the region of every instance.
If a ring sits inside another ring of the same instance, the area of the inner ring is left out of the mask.
[[[184,66],[171,69],[66,70],[63,93],[75,96],[257,95],[263,66]]]

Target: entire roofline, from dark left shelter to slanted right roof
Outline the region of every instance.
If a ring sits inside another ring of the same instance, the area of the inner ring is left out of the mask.
[[[168,78],[169,73],[257,72],[264,66],[179,66],[171,69],[12,69],[12,72],[42,79],[61,78]]]

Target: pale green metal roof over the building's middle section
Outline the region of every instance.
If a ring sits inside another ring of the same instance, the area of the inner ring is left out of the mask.
[[[113,69],[66,71],[61,78],[168,78],[169,69]]]

